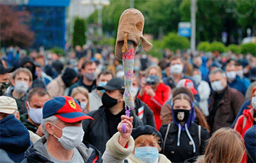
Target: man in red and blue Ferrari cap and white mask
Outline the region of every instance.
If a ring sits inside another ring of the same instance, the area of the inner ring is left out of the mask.
[[[69,96],[47,101],[43,105],[45,135],[28,148],[23,162],[102,162],[95,147],[82,143],[85,119],[92,120]]]

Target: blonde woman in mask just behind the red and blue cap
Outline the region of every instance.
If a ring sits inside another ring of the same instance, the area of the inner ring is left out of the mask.
[[[82,86],[72,90],[71,97],[78,101],[83,113],[90,112],[89,91]]]

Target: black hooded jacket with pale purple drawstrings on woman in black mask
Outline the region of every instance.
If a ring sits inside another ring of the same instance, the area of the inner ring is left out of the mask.
[[[166,135],[168,125],[162,125],[160,128],[160,133],[164,139]],[[201,145],[199,142],[199,135],[198,135],[198,125],[192,123],[191,126],[188,128],[188,131],[193,138],[193,141],[196,145],[196,153],[193,153],[193,145],[191,140],[189,139],[186,131],[181,130],[181,137],[180,137],[180,146],[177,146],[178,142],[178,127],[175,123],[171,123],[169,133],[166,138],[166,144],[162,152],[164,151],[164,155],[171,162],[184,162],[186,159],[190,159],[192,157],[196,157],[198,155],[204,154],[204,150],[206,147],[206,140],[210,138],[209,133],[206,131],[205,128],[201,128]]]

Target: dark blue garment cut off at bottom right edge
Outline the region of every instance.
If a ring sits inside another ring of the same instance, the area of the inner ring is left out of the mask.
[[[245,147],[252,161],[256,162],[256,125],[252,125],[252,127],[246,131]]]

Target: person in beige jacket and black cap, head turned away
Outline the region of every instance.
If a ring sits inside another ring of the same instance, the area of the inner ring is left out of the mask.
[[[63,96],[65,89],[70,87],[76,81],[78,81],[78,74],[75,72],[75,69],[70,67],[66,68],[63,74],[60,74],[47,85],[47,91],[50,94],[50,98]]]

